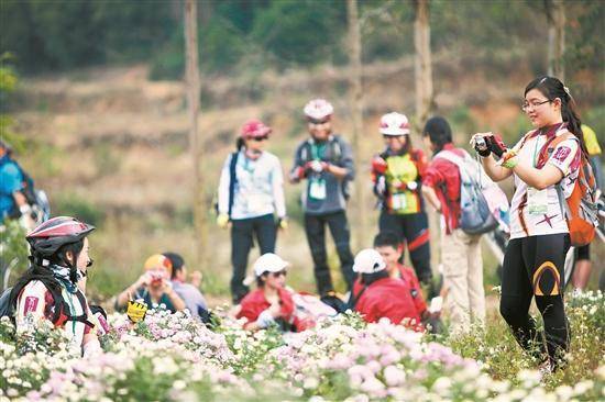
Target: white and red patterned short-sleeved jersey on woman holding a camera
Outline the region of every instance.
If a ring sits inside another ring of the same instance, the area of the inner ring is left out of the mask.
[[[562,127],[554,135],[569,133]],[[524,136],[525,137],[525,136]],[[531,160],[534,167],[538,164],[540,150],[549,136],[538,131],[529,134],[522,144],[522,138],[513,147],[522,160]],[[522,147],[521,147],[522,144]],[[571,196],[580,167],[579,143],[570,137],[557,145],[546,165],[553,165],[563,172],[562,190],[564,197]],[[544,165],[544,166],[546,166]],[[542,191],[527,186],[515,176],[515,196],[510,206],[510,238],[569,233],[568,223],[561,211],[561,203],[557,193],[557,185],[549,186]]]

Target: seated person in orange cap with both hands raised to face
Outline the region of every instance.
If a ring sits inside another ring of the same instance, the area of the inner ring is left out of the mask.
[[[145,272],[116,299],[116,310],[122,310],[129,300],[142,300],[150,309],[164,304],[170,312],[185,310],[183,299],[170,283],[172,264],[162,254],[154,254],[144,265]]]

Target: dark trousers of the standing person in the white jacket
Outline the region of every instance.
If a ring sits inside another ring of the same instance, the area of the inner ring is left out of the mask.
[[[233,264],[233,276],[231,277],[231,295],[235,304],[250,291],[243,280],[245,279],[248,256],[254,243],[254,235],[261,247],[261,255],[275,252],[277,227],[273,214],[232,222],[231,263]]]

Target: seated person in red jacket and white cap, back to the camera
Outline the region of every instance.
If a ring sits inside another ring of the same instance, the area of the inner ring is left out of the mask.
[[[366,248],[355,256],[353,270],[360,278],[353,287],[351,305],[369,323],[385,317],[394,324],[422,331],[409,287],[400,279],[391,278],[386,267],[375,249]]]

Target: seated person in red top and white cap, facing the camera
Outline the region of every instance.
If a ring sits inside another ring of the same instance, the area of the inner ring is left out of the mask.
[[[296,315],[293,294],[285,287],[288,266],[273,253],[263,254],[254,263],[257,289],[243,298],[237,314],[238,319],[245,319],[245,330],[277,325],[282,331],[300,332],[315,325],[315,321]]]

